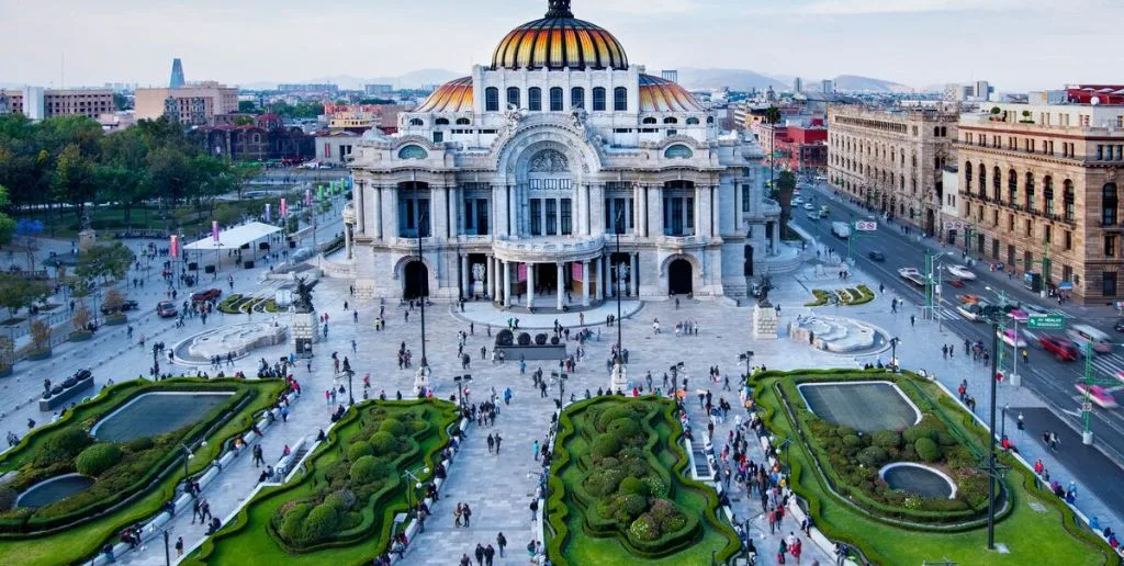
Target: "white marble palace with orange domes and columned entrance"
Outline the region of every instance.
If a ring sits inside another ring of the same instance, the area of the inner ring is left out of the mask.
[[[760,147],[631,64],[569,0],[398,120],[351,154],[356,295],[546,309],[744,296],[779,249]]]

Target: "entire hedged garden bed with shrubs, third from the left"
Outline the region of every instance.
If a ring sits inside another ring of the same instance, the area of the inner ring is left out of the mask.
[[[601,396],[562,412],[550,476],[553,564],[707,564],[740,548],[713,489],[688,480],[674,403]]]

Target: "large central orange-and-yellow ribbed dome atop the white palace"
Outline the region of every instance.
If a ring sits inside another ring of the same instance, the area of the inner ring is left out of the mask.
[[[628,69],[628,57],[613,34],[575,19],[570,0],[550,0],[546,17],[507,34],[492,53],[491,69]]]

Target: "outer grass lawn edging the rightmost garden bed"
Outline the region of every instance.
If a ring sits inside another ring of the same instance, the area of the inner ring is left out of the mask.
[[[773,384],[781,376],[792,383],[816,372],[768,372],[754,377],[754,399],[762,407],[763,418],[769,429],[778,438],[794,438],[792,422],[781,409]],[[886,374],[882,374],[883,376]],[[840,374],[840,378],[874,378],[862,372]],[[932,384],[922,386],[935,387]],[[946,399],[946,396],[945,396]],[[940,410],[954,419],[960,432],[973,437],[981,445],[987,441],[987,432],[970,424],[970,417],[952,409],[951,403],[940,401]],[[1061,500],[1046,491],[1034,487],[1033,474],[1021,467],[1012,458],[1004,457],[1010,465],[1006,485],[1012,496],[1013,510],[996,526],[995,540],[1005,545],[1009,553],[988,551],[987,531],[973,528],[961,532],[917,531],[889,524],[855,511],[840,502],[832,494],[825,480],[810,464],[812,453],[803,442],[792,442],[788,450],[791,465],[794,490],[812,508],[816,524],[831,538],[844,540],[865,553],[878,564],[922,564],[925,560],[945,559],[958,564],[1082,564],[1114,565],[1117,559],[1107,545],[1077,526],[1075,515]],[[782,458],[783,459],[783,458]],[[1041,509],[1037,511],[1034,506]]]

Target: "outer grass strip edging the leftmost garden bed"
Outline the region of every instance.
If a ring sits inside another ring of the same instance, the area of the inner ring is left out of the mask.
[[[103,390],[89,403],[79,405],[67,418],[58,423],[43,427],[38,433],[33,433],[24,439],[28,446],[12,453],[4,458],[4,466],[18,464],[34,453],[34,447],[44,438],[44,432],[48,432],[56,427],[70,423],[85,423],[96,421],[98,417],[112,412],[118,405],[137,393],[144,391],[162,390],[189,390],[192,386],[216,389],[226,385],[228,389],[250,389],[253,398],[243,408],[236,418],[232,418],[219,428],[214,435],[208,437],[207,446],[199,446],[194,450],[196,457],[189,464],[191,473],[196,474],[214,460],[221,451],[227,439],[246,431],[253,423],[252,416],[273,404],[278,395],[284,390],[281,381],[234,381],[234,380],[211,380],[206,382],[196,378],[176,378],[152,384],[148,382],[127,381],[112,387]],[[21,445],[24,446],[24,445]],[[101,517],[90,522],[78,524],[56,533],[43,537],[27,538],[16,535],[0,535],[0,564],[4,565],[58,565],[82,562],[98,553],[109,540],[117,540],[120,530],[129,524],[135,524],[147,520],[163,504],[172,499],[175,493],[175,485],[183,480],[182,463],[176,460],[172,472],[158,480],[143,497],[125,505],[123,509],[108,515]]]

